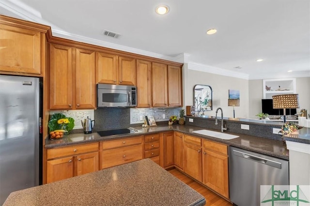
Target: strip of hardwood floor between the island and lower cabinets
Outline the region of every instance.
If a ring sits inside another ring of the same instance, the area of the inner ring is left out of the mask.
[[[189,187],[193,188],[195,191],[202,194],[202,196],[204,196],[206,200],[206,206],[233,206],[233,204],[221,198],[213,191],[210,191],[209,189],[203,187],[201,184],[199,184],[192,178],[187,177],[179,170],[173,168],[168,170],[168,172],[170,172],[173,176],[183,181]]]

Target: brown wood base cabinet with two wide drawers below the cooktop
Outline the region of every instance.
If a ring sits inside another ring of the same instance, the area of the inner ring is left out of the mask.
[[[129,137],[102,142],[102,168],[142,160],[143,136]]]

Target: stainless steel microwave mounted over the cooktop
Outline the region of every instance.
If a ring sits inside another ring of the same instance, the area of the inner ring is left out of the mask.
[[[137,106],[137,87],[97,84],[97,107]]]

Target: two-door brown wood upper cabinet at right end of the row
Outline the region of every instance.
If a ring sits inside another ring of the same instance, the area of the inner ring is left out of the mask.
[[[152,63],[152,94],[154,107],[182,106],[181,68]]]

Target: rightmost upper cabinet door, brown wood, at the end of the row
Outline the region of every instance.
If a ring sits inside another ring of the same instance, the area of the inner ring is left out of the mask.
[[[182,70],[168,66],[168,106],[182,106]]]

